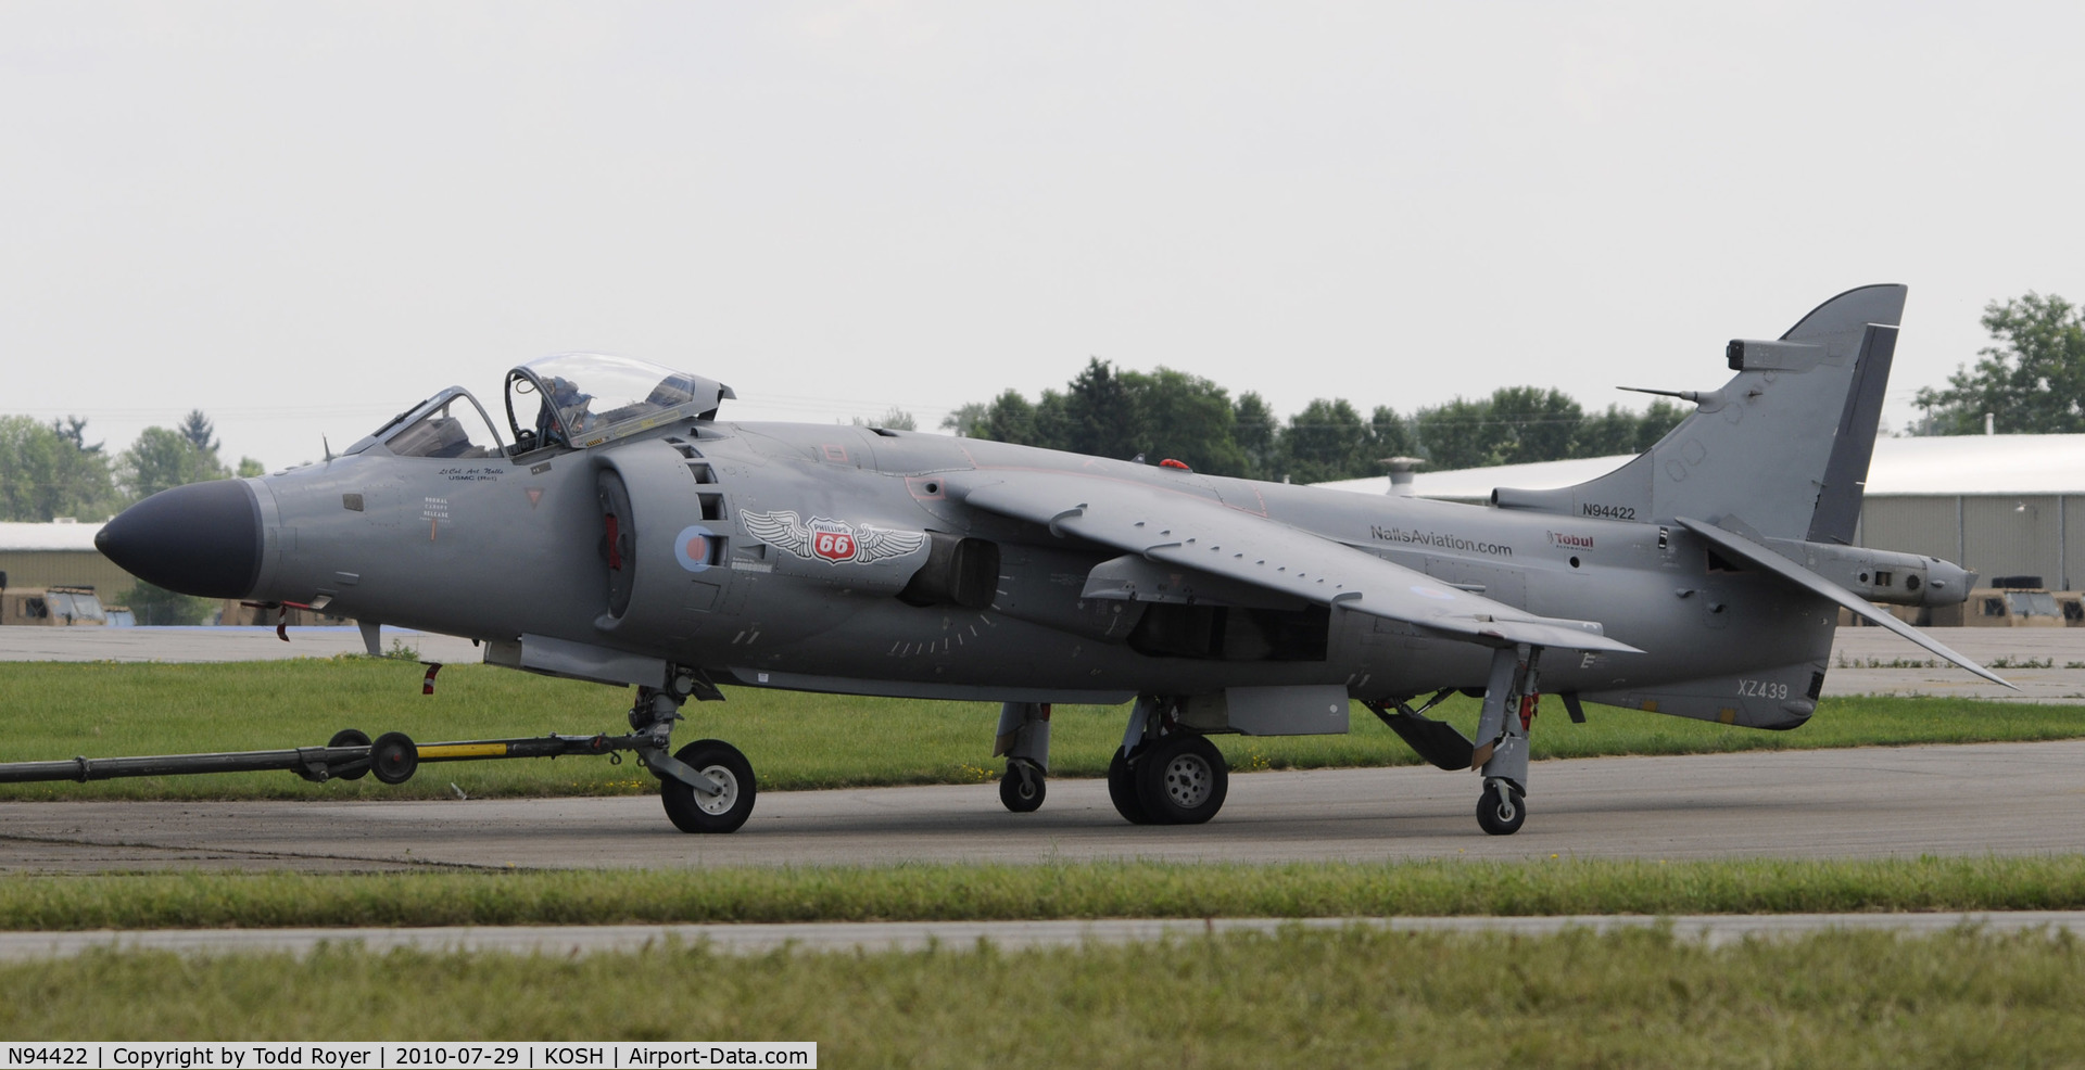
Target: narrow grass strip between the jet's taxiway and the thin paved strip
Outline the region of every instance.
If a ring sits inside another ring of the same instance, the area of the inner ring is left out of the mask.
[[[2085,856],[0,876],[0,928],[2085,910]]]

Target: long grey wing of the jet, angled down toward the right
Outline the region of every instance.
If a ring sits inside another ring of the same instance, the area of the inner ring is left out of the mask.
[[[1401,564],[1193,493],[1074,473],[970,473],[951,498],[1151,562],[1387,616],[1451,639],[1641,654],[1593,620],[1532,616]]]

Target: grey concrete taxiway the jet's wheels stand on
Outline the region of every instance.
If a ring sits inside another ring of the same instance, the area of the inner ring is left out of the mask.
[[[0,804],[0,870],[703,868],[1053,860],[1885,858],[2085,851],[2085,741],[1537,762],[1528,824],[1476,829],[1478,781],[1434,768],[1230,779],[1201,826],[1132,826],[1101,781],[1036,814],[997,785],[761,795],[734,835],[657,797]]]

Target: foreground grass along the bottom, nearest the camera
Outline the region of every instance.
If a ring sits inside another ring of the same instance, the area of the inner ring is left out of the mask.
[[[821,1066],[2070,1066],[2068,937],[1301,933],[886,953],[90,953],[0,966],[0,1035],[817,1041]],[[617,1058],[636,1064],[632,1047]]]

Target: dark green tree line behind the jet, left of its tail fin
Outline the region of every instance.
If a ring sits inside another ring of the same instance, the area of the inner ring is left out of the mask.
[[[1115,368],[1093,358],[1065,389],[1028,400],[1005,391],[967,404],[945,429],[978,439],[1111,458],[1174,458],[1197,473],[1324,483],[1382,475],[1382,460],[1414,456],[1432,468],[1482,468],[1647,450],[1685,410],[1655,400],[1645,412],[1587,412],[1557,389],[1501,387],[1401,414],[1366,416],[1345,398],[1318,398],[1286,421],[1266,398],[1230,391],[1174,368]]]

